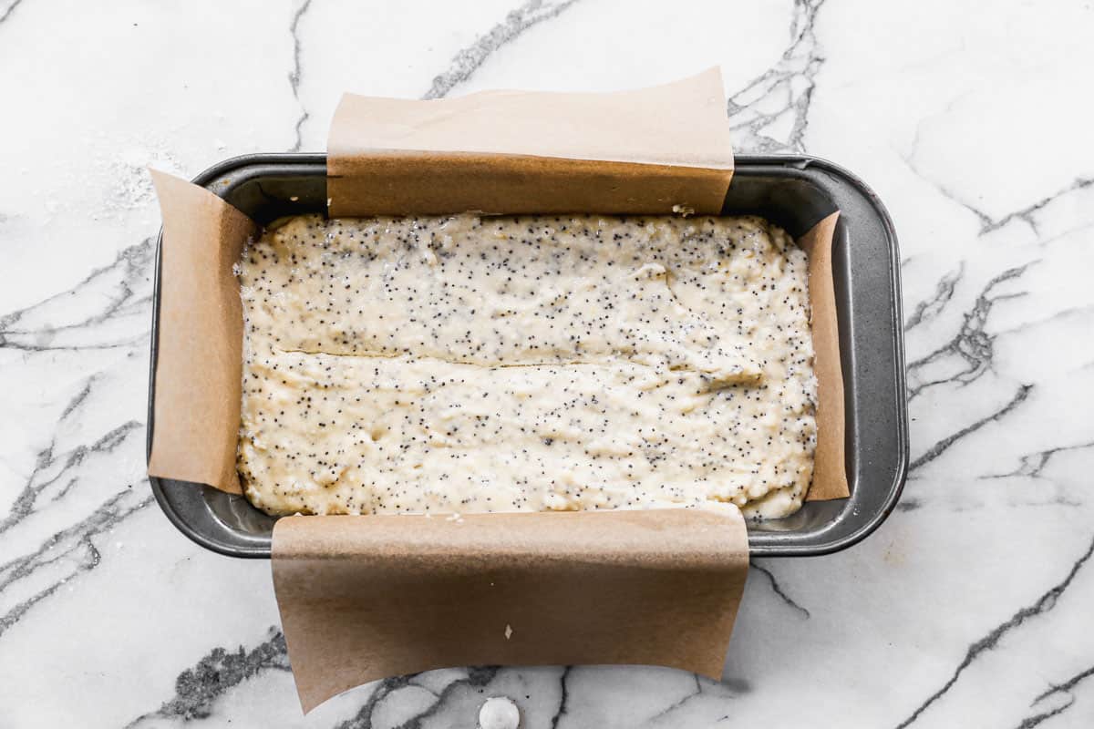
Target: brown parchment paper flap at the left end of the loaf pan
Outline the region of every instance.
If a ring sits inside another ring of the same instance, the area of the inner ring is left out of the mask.
[[[151,174],[163,247],[148,472],[237,494],[243,302],[232,267],[257,226],[203,188]]]

